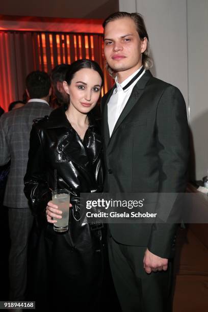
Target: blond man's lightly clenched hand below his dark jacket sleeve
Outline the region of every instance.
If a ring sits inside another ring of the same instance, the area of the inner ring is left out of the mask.
[[[148,248],[145,251],[143,263],[146,273],[166,271],[168,269],[168,259],[151,253]]]

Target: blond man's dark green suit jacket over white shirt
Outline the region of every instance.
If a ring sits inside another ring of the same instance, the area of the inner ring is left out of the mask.
[[[101,102],[106,163],[105,192],[180,193],[186,190],[189,158],[189,127],[186,104],[180,91],[147,70],[135,85],[109,136],[108,101]],[[168,211],[160,199],[155,212]],[[161,257],[172,255],[176,224],[110,224],[119,243],[147,246]]]

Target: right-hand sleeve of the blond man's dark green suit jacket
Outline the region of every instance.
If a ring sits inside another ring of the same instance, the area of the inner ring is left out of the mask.
[[[180,222],[179,193],[186,190],[189,160],[189,126],[186,104],[180,91],[169,86],[157,110],[159,196],[148,249],[162,258],[171,257]]]

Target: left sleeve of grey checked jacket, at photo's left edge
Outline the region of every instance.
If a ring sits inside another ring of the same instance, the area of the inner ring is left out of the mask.
[[[0,119],[0,147],[1,147],[0,166],[6,165],[10,160],[10,150],[4,129],[5,121],[6,120],[4,119],[4,116],[2,116]]]

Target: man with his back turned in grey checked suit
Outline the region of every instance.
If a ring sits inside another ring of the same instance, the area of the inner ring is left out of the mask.
[[[27,168],[30,131],[33,120],[49,115],[50,78],[42,71],[26,79],[31,98],[23,107],[0,119],[0,166],[11,160],[4,205],[8,207],[11,250],[9,255],[10,300],[24,300],[27,283],[27,247],[33,217],[24,196],[23,177]]]

